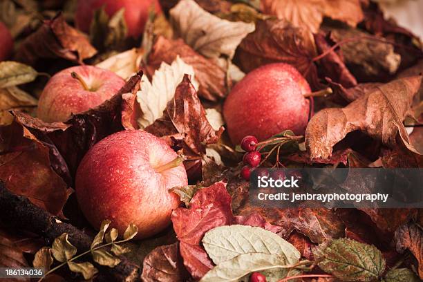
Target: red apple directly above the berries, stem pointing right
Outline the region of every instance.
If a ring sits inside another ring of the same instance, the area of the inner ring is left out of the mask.
[[[291,129],[303,135],[310,112],[306,79],[293,66],[276,63],[256,68],[226,98],[223,115],[229,137],[240,144],[246,135],[261,141]]]

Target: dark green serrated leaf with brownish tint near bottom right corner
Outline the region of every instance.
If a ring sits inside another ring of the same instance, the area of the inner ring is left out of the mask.
[[[346,281],[375,281],[385,270],[385,259],[375,246],[349,238],[319,245],[314,258],[324,272]]]

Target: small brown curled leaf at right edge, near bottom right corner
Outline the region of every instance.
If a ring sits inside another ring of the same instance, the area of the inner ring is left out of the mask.
[[[423,279],[423,230],[420,225],[408,223],[395,231],[395,244],[398,252],[408,249],[419,263],[419,276]]]

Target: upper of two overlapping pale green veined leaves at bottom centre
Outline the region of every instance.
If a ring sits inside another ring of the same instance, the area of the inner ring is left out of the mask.
[[[229,225],[216,227],[205,234],[203,246],[215,264],[240,254],[279,254],[286,263],[297,263],[299,251],[280,236],[260,227]]]

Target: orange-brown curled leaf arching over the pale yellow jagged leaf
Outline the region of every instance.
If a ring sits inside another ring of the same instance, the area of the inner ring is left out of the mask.
[[[171,64],[178,56],[194,68],[195,78],[200,84],[198,88],[200,97],[216,101],[226,96],[227,88],[231,85],[227,84],[225,71],[212,59],[206,59],[196,53],[182,39],[169,40],[164,37],[156,39],[147,59],[149,77],[153,76],[154,71],[160,67],[162,62]]]

